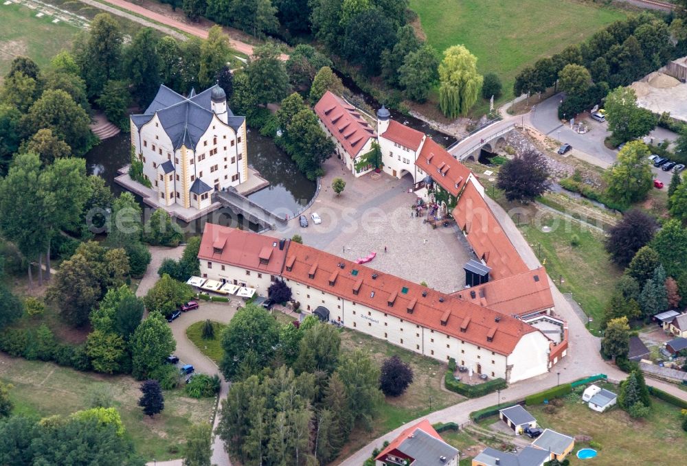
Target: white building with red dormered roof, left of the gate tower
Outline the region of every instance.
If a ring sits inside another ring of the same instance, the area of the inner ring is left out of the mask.
[[[343,100],[342,97],[326,91],[322,99],[315,104],[315,114],[325,134],[336,146],[336,154],[341,163],[354,176],[362,176],[373,167],[357,170],[355,164],[359,157],[372,149],[372,141],[377,134],[368,124],[357,108]]]

